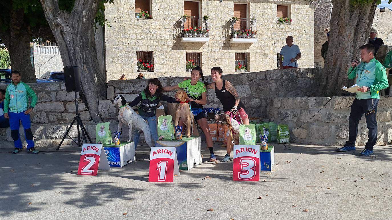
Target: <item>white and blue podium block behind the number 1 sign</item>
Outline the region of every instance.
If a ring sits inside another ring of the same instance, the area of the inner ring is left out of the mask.
[[[180,170],[191,170],[201,164],[201,139],[200,136],[182,138],[177,140],[158,140],[155,147],[176,147],[178,166]]]

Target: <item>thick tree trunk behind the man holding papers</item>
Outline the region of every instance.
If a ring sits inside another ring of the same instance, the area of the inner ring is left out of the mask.
[[[323,74],[320,76],[319,96],[341,93],[347,84],[347,70],[351,60],[359,59],[359,47],[369,38],[377,0],[369,4],[351,5],[351,1],[333,0],[328,41]],[[351,85],[347,85],[351,86]]]

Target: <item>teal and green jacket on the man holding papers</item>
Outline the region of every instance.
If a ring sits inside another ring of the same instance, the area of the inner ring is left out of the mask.
[[[384,66],[376,58],[373,58],[369,63],[359,63],[351,72],[352,69],[352,67],[348,69],[348,79],[356,78],[358,86],[367,86],[370,89],[368,92],[356,93],[356,98],[380,98],[379,91],[388,87],[387,73]]]

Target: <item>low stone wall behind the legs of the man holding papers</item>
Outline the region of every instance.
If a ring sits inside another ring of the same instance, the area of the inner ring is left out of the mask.
[[[290,131],[294,131],[316,114],[308,123],[290,135],[292,142],[312,145],[344,145],[348,140],[348,116],[353,101],[354,96],[332,97],[332,99],[329,97],[273,97],[270,99],[267,112],[271,121],[288,124]],[[323,107],[327,102],[328,104]],[[392,141],[391,110],[392,97],[381,97],[377,108],[377,145]],[[367,140],[368,129],[365,116],[363,116],[359,121],[357,145],[365,145]]]

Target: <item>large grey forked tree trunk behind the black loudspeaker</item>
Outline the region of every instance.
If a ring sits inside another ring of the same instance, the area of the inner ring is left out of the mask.
[[[71,13],[60,10],[58,0],[41,0],[41,4],[64,66],[81,68],[83,97],[89,109],[98,114],[98,102],[106,98],[106,79],[98,65],[94,39],[98,0],[75,0]],[[91,118],[99,122],[96,114],[91,114]]]

